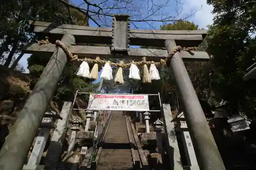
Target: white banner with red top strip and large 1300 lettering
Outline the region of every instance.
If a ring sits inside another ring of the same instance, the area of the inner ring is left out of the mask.
[[[147,95],[90,94],[88,110],[149,111]]]

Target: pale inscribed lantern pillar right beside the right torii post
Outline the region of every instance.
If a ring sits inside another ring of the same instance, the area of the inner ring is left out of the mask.
[[[188,166],[190,166],[191,170],[199,170],[196,153],[193,147],[192,140],[190,138],[190,134],[187,129],[187,124],[183,112],[177,116],[177,121],[178,125],[180,126],[178,129],[181,131],[181,138],[183,146],[185,148]]]

